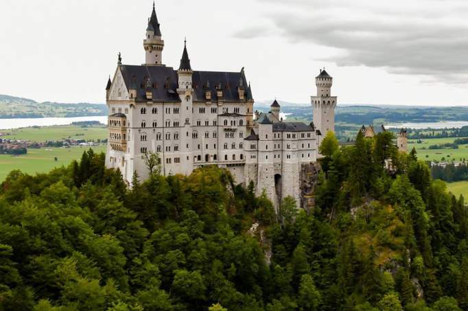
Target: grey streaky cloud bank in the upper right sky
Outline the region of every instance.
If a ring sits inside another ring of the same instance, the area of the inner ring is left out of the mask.
[[[384,68],[423,80],[468,82],[468,1],[257,0],[268,3],[271,27],[244,38],[281,34],[338,52],[315,56],[339,66]],[[242,38],[242,36],[238,36]]]

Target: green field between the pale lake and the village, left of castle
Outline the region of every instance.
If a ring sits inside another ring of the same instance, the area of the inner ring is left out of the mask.
[[[0,130],[11,135],[2,136],[5,139],[22,139],[30,141],[56,141],[61,139],[106,139],[106,126],[44,126],[40,128],[18,128],[15,130]]]

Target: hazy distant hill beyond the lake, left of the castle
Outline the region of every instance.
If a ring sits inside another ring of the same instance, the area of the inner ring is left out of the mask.
[[[99,115],[107,115],[105,104],[36,102],[28,98],[0,95],[0,119]]]

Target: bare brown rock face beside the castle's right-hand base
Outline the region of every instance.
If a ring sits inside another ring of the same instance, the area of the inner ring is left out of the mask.
[[[318,173],[322,170],[318,162],[301,165],[301,205],[307,212],[314,208],[314,189],[318,182]]]

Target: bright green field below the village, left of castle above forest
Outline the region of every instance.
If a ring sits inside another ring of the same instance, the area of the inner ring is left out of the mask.
[[[106,146],[92,148],[95,152],[106,152]],[[12,170],[36,174],[49,172],[61,165],[69,165],[71,161],[80,159],[83,152],[88,149],[89,147],[28,149],[27,154],[17,157],[0,154],[0,182]],[[57,161],[54,157],[57,157]]]

